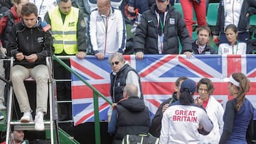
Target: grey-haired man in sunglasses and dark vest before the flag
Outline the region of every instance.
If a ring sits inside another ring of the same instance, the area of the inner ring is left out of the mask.
[[[113,101],[113,106],[123,99],[123,90],[127,84],[134,84],[138,87],[137,96],[143,99],[142,94],[142,84],[139,74],[134,70],[127,62],[125,62],[124,57],[120,53],[115,53],[108,58],[112,72],[110,73],[110,96]],[[112,107],[108,111],[108,120],[112,115]]]

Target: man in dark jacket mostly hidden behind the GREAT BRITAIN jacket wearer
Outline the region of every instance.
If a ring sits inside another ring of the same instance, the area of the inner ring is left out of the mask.
[[[178,97],[180,96],[181,92],[181,83],[188,79],[187,77],[179,77],[175,82],[175,92],[172,94],[171,98],[166,99],[160,106],[159,109],[157,109],[156,114],[154,115],[154,118],[151,121],[151,126],[149,128],[149,133],[151,135],[154,135],[155,137],[160,137],[160,131],[161,131],[161,119],[163,118],[163,113],[166,111],[167,108],[169,108],[169,105],[178,101]]]

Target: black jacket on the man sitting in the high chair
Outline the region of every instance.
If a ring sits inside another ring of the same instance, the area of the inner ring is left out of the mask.
[[[14,65],[22,65],[26,68],[33,68],[36,65],[46,65],[46,57],[50,56],[50,38],[41,27],[41,18],[38,17],[38,23],[33,28],[27,28],[23,20],[21,23],[15,23],[11,29],[10,45],[7,50],[11,51],[11,56],[16,59],[18,52],[23,55],[36,54],[38,60],[36,62],[28,62],[26,59],[21,61],[15,60]]]

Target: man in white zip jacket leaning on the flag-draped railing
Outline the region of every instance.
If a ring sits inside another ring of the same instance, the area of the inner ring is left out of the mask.
[[[89,36],[91,52],[98,60],[116,52],[124,53],[126,28],[122,12],[110,0],[97,0],[97,9],[90,13]]]

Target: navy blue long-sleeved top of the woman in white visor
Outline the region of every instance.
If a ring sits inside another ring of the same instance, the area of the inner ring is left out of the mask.
[[[247,144],[246,136],[252,138],[252,123],[254,108],[248,99],[245,99],[239,111],[235,109],[235,100],[227,102],[223,116],[223,134],[220,144]]]

